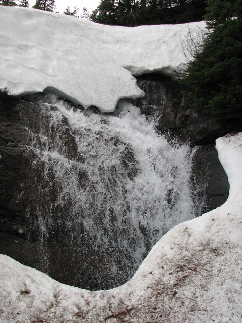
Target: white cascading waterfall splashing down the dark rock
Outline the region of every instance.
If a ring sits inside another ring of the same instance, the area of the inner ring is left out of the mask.
[[[191,149],[169,144],[136,106],[120,101],[101,114],[55,100],[40,104],[38,122],[28,113],[37,203],[29,197],[26,217],[38,269],[75,286],[112,288],[165,232],[194,217]]]

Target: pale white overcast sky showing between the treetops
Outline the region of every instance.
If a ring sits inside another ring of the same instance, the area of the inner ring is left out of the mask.
[[[56,0],[55,5],[56,9],[55,11],[58,11],[62,13],[68,6],[71,10],[74,9],[74,7],[79,8],[78,15],[82,14],[82,8],[86,7],[89,12],[92,12],[97,6],[101,0]],[[36,3],[36,0],[29,0],[30,7],[34,6]]]

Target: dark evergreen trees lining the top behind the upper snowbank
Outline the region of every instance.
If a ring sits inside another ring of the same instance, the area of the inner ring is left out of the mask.
[[[122,26],[185,23],[202,20],[205,0],[101,0],[91,20]]]

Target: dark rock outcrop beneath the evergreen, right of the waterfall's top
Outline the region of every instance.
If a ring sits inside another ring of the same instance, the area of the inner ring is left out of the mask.
[[[241,127],[241,120],[219,122],[202,113],[199,107],[187,106],[181,95],[180,84],[161,74],[137,78],[144,98],[135,100],[146,115],[159,118],[159,130],[170,139],[191,145],[214,144],[215,139]]]

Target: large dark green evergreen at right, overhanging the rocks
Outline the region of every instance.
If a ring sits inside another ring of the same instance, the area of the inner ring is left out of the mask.
[[[185,94],[217,118],[242,116],[241,1],[207,1],[210,32],[189,63]],[[236,8],[236,11],[235,11]],[[232,18],[237,13],[237,18]],[[213,29],[212,29],[213,28]]]

